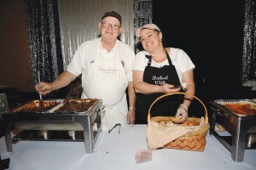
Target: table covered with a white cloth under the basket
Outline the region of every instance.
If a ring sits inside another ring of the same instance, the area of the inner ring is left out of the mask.
[[[147,150],[147,125],[116,127],[111,133],[101,132],[94,152],[86,154],[83,142],[20,141],[7,152],[1,142],[3,158],[10,158],[13,170],[255,170],[256,150],[245,150],[242,162],[233,161],[230,151],[214,136],[207,134],[203,152],[189,150],[153,150],[152,161],[137,164],[137,150]]]

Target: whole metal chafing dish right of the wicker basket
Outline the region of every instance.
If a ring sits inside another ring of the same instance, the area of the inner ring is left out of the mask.
[[[213,134],[230,150],[234,161],[243,161],[245,149],[255,149],[256,101],[251,99],[217,99],[210,101]],[[230,135],[221,135],[215,130],[222,125]]]

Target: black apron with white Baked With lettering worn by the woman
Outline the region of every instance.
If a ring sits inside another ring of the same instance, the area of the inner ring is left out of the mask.
[[[174,86],[180,85],[179,78],[175,66],[172,65],[172,60],[166,52],[169,65],[164,65],[161,68],[152,67],[152,57],[146,55],[148,65],[145,68],[143,75],[143,82],[149,84],[162,85],[164,83],[172,84]],[[136,101],[136,124],[147,124],[148,109],[155,99],[160,97],[158,94],[137,94]],[[151,108],[151,116],[175,116],[177,108],[183,101],[183,95],[174,94],[165,98],[159,99]]]

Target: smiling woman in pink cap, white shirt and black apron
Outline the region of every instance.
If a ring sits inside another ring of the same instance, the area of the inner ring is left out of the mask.
[[[147,123],[150,105],[163,94],[175,93],[186,84],[186,93],[195,94],[193,69],[195,65],[189,56],[179,48],[165,48],[162,32],[158,26],[147,24],[137,29],[144,50],[136,55],[133,67],[133,83],[137,93],[137,124]],[[151,108],[151,116],[180,117],[179,123],[188,118],[188,108],[192,97],[174,94],[160,99]]]

